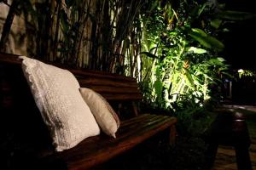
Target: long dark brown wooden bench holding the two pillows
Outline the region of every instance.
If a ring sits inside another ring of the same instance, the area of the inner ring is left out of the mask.
[[[9,163],[11,168],[15,168],[12,166],[27,167],[27,165],[37,167],[47,160],[52,165],[59,163],[67,169],[89,169],[165,130],[171,130],[168,138],[170,138],[170,144],[174,144],[177,118],[139,113],[136,105],[143,99],[143,95],[135,79],[102,71],[69,69],[78,78],[81,87],[91,88],[102,94],[110,104],[113,104],[113,108],[120,117],[125,117],[122,116],[120,103],[123,105],[131,103],[130,111],[134,116],[121,119],[116,139],[101,134],[84,139],[70,150],[55,152],[48,130],[23,77],[20,64],[21,59],[17,55],[0,54],[2,116],[0,124],[1,133],[4,133],[1,135],[6,138],[4,142],[11,145],[9,153],[7,151],[7,155],[11,153],[13,156]]]

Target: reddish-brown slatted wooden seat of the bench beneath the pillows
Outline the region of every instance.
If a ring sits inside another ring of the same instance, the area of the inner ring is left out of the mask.
[[[66,162],[68,169],[88,169],[130,150],[154,134],[172,127],[175,122],[176,119],[171,116],[139,115],[121,122],[116,139],[107,135],[90,137],[70,150],[56,153],[53,157]]]

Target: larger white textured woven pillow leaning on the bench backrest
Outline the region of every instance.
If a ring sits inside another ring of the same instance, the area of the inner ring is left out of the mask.
[[[22,70],[53,139],[56,151],[67,150],[100,133],[70,71],[20,56]]]

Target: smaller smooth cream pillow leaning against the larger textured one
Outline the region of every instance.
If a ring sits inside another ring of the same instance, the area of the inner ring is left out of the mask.
[[[115,138],[120,121],[111,105],[108,104],[108,101],[101,94],[97,94],[90,88],[79,88],[79,90],[102,131]]]

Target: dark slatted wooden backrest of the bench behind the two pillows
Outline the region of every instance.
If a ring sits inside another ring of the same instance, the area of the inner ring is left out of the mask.
[[[20,147],[30,143],[30,146],[36,144],[37,147],[49,149],[51,139],[23,76],[21,62],[17,55],[0,53],[0,128],[3,130],[0,135],[5,133],[6,139],[14,136],[11,142],[15,140]],[[143,98],[134,78],[102,71],[67,70],[77,77],[81,87],[95,90],[111,104]]]

